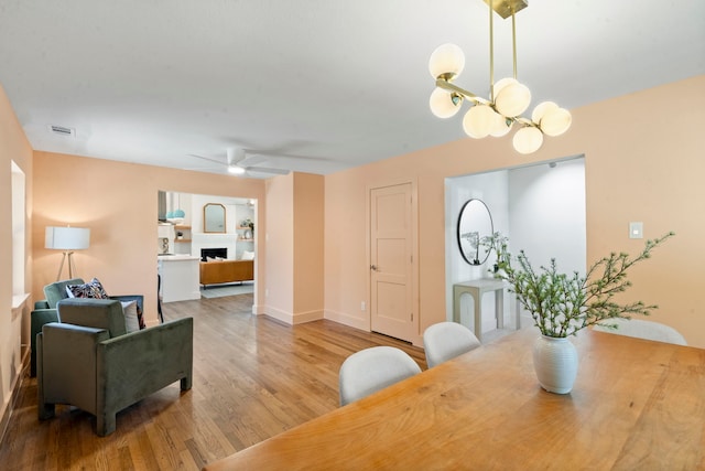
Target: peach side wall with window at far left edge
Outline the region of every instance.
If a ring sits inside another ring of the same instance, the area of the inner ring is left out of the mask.
[[[0,224],[0,438],[10,410],[12,390],[19,384],[23,362],[29,357],[29,325],[32,299],[24,309],[12,313],[12,224],[8,218],[12,214],[11,169],[13,162],[25,176],[25,290],[32,282],[30,248],[32,246],[32,148],[22,131],[4,88],[0,85],[0,214],[4,217]],[[22,346],[24,345],[24,346]]]

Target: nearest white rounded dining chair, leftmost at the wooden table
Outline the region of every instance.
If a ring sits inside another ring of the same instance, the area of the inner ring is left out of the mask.
[[[340,406],[361,399],[416,373],[421,373],[421,367],[400,349],[372,346],[360,350],[348,356],[340,366]]]

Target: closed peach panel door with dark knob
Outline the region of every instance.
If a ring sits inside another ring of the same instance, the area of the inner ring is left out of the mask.
[[[370,191],[370,315],[372,331],[412,342],[413,213],[411,183]]]

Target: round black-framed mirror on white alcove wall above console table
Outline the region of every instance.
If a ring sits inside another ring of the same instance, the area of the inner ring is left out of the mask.
[[[482,265],[489,257],[489,250],[481,247],[482,237],[495,233],[492,216],[482,200],[469,200],[460,208],[458,217],[458,247],[465,261]]]

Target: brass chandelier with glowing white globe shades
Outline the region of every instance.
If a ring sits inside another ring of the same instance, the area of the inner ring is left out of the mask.
[[[521,115],[531,104],[531,92],[517,81],[517,32],[514,13],[529,6],[528,0],[485,0],[489,6],[489,99],[455,85],[453,81],[465,67],[465,55],[455,44],[438,46],[429,60],[429,71],[436,81],[429,105],[438,118],[455,116],[464,100],[471,103],[463,118],[465,133],[475,139],[506,136],[514,125],[519,128],[512,143],[517,152],[532,153],[543,144],[543,136],[560,136],[571,127],[571,113],[553,101],[539,104],[531,119]],[[513,77],[495,83],[495,33],[492,11],[502,19],[511,17]]]

